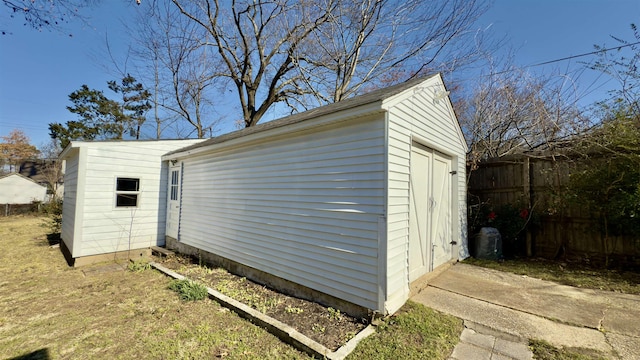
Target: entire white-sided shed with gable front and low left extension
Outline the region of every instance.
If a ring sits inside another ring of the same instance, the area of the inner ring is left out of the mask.
[[[301,296],[393,313],[467,256],[467,148],[447,94],[435,75],[173,149],[73,142],[65,247],[78,261],[166,239]]]

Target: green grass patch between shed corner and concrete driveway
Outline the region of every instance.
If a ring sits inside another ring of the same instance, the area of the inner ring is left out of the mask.
[[[409,301],[347,359],[446,359],[462,329],[462,320]]]

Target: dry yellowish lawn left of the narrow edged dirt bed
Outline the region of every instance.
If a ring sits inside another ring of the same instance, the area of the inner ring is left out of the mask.
[[[307,358],[215,302],[181,301],[156,271],[69,268],[43,222],[0,218],[0,358]]]

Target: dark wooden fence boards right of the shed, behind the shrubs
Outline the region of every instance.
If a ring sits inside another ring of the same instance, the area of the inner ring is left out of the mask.
[[[528,227],[528,255],[603,258],[605,250],[597,219],[584,207],[559,200],[575,165],[562,158],[511,157],[487,161],[470,171],[469,204],[514,205],[531,208],[537,225]],[[610,254],[640,262],[640,236],[612,237]],[[627,259],[628,260],[628,259]]]

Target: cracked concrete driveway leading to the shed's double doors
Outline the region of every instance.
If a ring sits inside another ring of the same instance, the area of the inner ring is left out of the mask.
[[[574,288],[458,263],[412,300],[520,338],[640,359],[637,295]]]

